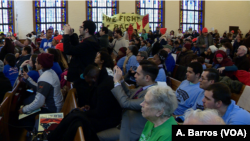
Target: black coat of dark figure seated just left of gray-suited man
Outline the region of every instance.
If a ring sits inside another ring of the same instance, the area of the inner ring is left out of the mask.
[[[113,77],[103,68],[90,92],[90,110],[85,112],[96,132],[113,128],[121,122],[122,109],[111,92],[113,88]]]

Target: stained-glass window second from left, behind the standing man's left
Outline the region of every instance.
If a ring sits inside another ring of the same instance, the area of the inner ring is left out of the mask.
[[[51,27],[54,31],[63,30],[67,23],[67,3],[68,0],[35,0],[35,31],[42,32]]]

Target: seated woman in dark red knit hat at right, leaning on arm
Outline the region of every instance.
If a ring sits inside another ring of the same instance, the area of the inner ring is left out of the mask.
[[[227,54],[222,50],[218,50],[215,53],[212,67],[218,69],[222,76],[228,76],[230,78],[233,78],[233,72],[238,70],[234,63],[228,58]]]

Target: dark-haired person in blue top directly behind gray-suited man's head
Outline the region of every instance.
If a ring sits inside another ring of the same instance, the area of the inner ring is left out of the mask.
[[[158,65],[159,73],[155,81],[166,82],[167,80],[167,67],[165,65],[165,60],[168,57],[168,52],[165,50],[160,50],[157,54],[154,55],[153,61]]]

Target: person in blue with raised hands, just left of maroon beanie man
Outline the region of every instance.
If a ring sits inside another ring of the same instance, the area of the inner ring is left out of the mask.
[[[33,54],[31,57],[30,57],[30,60],[26,60],[22,63],[21,65],[21,70],[23,71],[26,71],[25,69],[23,69],[25,66],[27,66],[27,74],[29,75],[30,78],[32,78],[36,83],[37,83],[37,80],[39,78],[39,73],[38,71],[36,70],[36,58],[37,58],[37,55],[36,54]],[[20,71],[21,71],[20,70]]]

